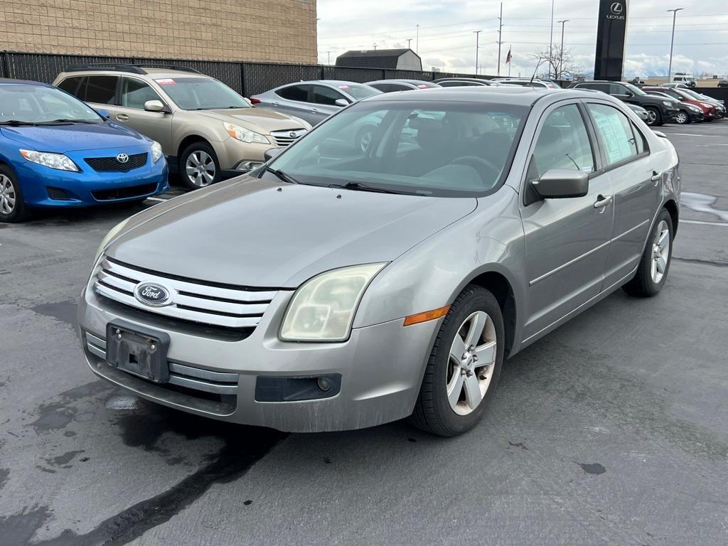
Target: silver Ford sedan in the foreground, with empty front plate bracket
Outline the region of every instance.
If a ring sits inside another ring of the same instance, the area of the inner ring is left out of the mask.
[[[362,149],[365,117],[381,121]],[[620,287],[660,292],[680,185],[670,142],[604,93],[380,95],[112,229],[79,303],[84,355],[214,419],[457,435],[505,358]]]

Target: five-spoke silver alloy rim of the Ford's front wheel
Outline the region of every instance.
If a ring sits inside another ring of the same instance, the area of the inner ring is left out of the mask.
[[[493,379],[497,352],[495,325],[483,311],[464,320],[450,347],[447,396],[458,415],[468,415],[483,401]]]

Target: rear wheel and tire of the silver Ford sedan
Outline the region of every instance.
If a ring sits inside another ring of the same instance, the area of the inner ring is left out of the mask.
[[[654,296],[662,290],[668,279],[668,272],[670,272],[674,233],[673,219],[670,217],[670,213],[663,208],[649,234],[637,273],[622,287],[626,293],[646,298]]]

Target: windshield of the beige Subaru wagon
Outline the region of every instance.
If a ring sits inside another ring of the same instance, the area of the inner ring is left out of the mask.
[[[181,78],[160,78],[154,81],[183,110],[251,107],[247,100],[216,79],[183,76]]]

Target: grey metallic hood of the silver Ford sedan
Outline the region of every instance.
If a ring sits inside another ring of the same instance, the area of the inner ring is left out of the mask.
[[[106,253],[196,280],[296,288],[329,269],[392,261],[477,205],[475,198],[380,194],[246,175],[135,215]]]

